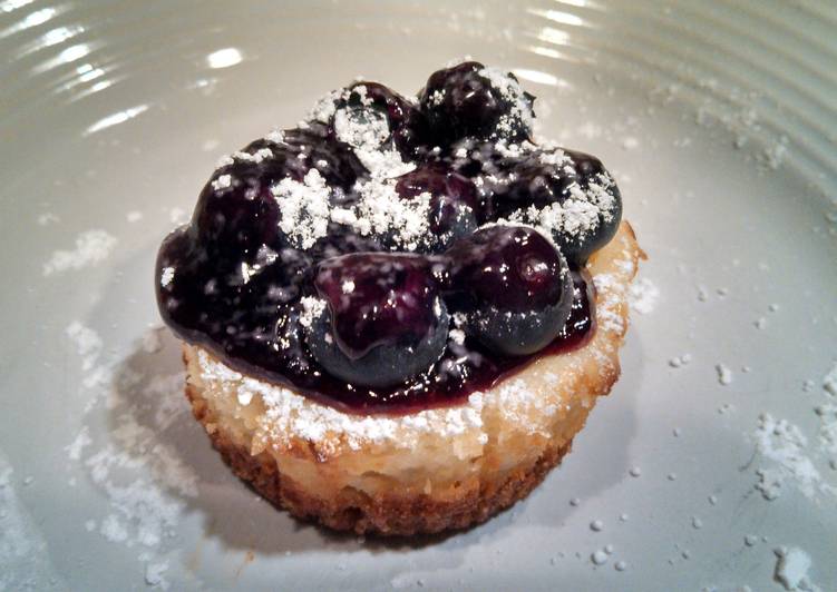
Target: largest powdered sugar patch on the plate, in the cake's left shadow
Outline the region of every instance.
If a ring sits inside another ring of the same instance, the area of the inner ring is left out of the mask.
[[[149,327],[137,352],[168,356],[160,330]],[[139,550],[146,583],[165,590],[168,562],[163,556],[172,549],[186,501],[198,493],[194,468],[166,437],[172,428],[183,430],[175,427],[181,422],[193,425],[183,397],[184,373],[138,374],[125,359],[105,357],[103,338],[80,322],[71,323],[66,334],[80,358],[80,392],[88,397],[84,420],[107,413],[111,423],[105,431],[82,423],[65,447],[71,466],[107,500],[108,510],[85,517],[81,527]],[[69,485],[76,486],[75,477]]]

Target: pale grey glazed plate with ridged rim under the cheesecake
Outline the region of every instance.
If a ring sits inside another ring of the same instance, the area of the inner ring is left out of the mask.
[[[450,4],[0,1],[0,589],[837,589],[834,2]],[[330,535],[189,417],[155,250],[222,154],[464,55],[617,176],[623,377],[485,525]]]

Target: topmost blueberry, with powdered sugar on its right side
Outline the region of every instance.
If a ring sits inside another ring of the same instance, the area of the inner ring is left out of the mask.
[[[465,138],[519,142],[529,137],[534,97],[517,79],[467,61],[430,75],[421,110],[441,145]]]

